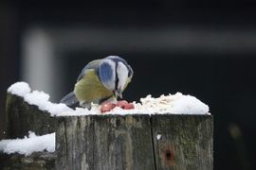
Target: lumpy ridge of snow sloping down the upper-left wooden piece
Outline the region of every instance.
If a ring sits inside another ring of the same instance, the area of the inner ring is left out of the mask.
[[[63,103],[56,104],[50,102],[50,96],[47,93],[39,91],[33,91],[30,93],[29,85],[26,82],[16,82],[12,84],[9,87],[8,92],[24,97],[24,100],[27,101],[28,104],[36,105],[40,110],[48,111],[51,116],[55,116],[64,111],[72,111],[71,108],[68,108]]]

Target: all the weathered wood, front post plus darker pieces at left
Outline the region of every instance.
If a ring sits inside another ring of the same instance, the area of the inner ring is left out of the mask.
[[[1,153],[0,161],[4,162],[2,168],[213,169],[211,115],[102,114],[50,117],[48,112],[10,93],[7,97],[7,114],[9,138],[24,137],[28,130],[38,135],[56,130],[56,153],[47,155],[39,152],[27,158]]]

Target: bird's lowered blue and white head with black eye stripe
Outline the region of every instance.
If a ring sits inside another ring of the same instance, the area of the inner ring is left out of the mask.
[[[122,92],[134,74],[131,66],[118,56],[109,56],[101,60],[98,74],[102,85],[113,92],[115,97],[122,97]]]

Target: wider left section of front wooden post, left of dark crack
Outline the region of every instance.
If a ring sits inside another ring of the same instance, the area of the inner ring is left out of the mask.
[[[56,169],[155,169],[149,115],[62,117]]]

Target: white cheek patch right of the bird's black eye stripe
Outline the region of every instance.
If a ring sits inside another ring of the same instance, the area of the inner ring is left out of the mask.
[[[118,71],[118,76],[119,76],[118,88],[121,89],[121,91],[123,91],[123,88],[126,84],[126,80],[128,78],[128,70],[127,70],[126,66],[121,62],[118,63],[117,69],[118,69],[117,71]]]

